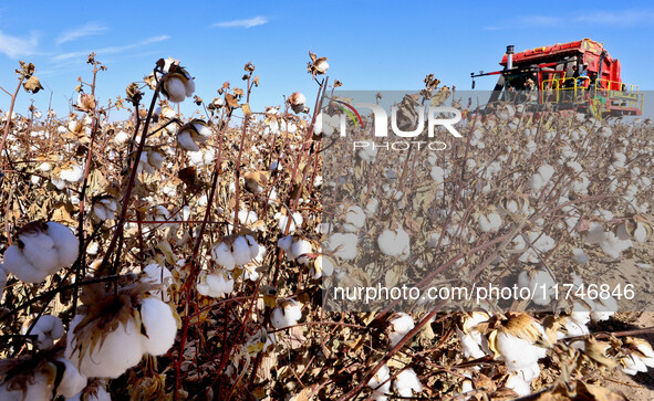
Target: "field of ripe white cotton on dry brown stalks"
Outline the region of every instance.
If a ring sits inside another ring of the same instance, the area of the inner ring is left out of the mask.
[[[443,151],[326,150],[342,84],[324,56],[307,60],[315,93],[289,84],[261,110],[250,98],[271,77],[250,62],[214,99],[173,59],[98,99],[105,66],[87,63],[70,114],[13,109],[42,89],[22,62],[24,91],[2,104],[1,400],[627,400],[651,386],[650,120],[501,104],[467,109]],[[421,102],[464,103],[425,83],[401,125]],[[533,297],[326,307],[334,283],[473,281]]]

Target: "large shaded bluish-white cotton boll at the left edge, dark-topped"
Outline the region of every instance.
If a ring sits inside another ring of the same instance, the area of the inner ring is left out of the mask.
[[[77,260],[77,239],[60,223],[28,223],[17,239],[4,252],[4,270],[25,283],[40,283]]]

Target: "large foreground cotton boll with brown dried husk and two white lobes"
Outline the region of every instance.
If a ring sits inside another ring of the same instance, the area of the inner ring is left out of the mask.
[[[144,355],[162,356],[173,347],[177,321],[170,307],[148,293],[155,288],[138,282],[117,294],[102,285],[85,288],[65,349],[82,374],[115,379]]]

